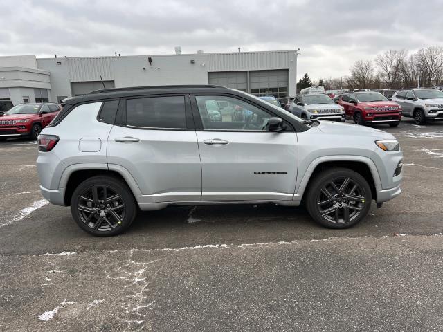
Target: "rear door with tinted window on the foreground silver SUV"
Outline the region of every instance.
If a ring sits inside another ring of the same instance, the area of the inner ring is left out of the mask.
[[[108,138],[109,168],[124,167],[139,203],[200,201],[201,164],[189,96],[120,100]]]

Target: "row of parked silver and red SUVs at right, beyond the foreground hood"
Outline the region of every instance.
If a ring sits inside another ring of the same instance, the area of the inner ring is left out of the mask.
[[[440,89],[397,91],[390,100],[378,91],[356,89],[331,98],[323,86],[302,89],[295,98],[281,100],[282,107],[306,120],[353,120],[356,124],[389,124],[397,127],[402,117],[415,124],[443,120],[443,92]]]

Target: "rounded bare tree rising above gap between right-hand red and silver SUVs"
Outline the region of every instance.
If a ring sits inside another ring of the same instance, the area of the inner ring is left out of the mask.
[[[388,88],[399,86],[401,68],[407,56],[406,50],[387,50],[375,58],[375,64]]]

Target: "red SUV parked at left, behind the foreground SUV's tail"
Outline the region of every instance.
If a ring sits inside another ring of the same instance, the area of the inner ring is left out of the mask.
[[[6,113],[0,113],[0,140],[28,136],[37,139],[40,131],[62,109],[59,104],[19,104]]]

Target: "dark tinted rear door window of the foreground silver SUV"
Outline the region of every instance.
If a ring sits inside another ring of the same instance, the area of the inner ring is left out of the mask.
[[[183,96],[129,99],[126,114],[128,127],[186,129]]]

